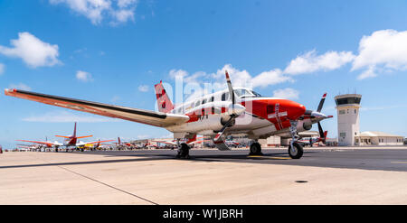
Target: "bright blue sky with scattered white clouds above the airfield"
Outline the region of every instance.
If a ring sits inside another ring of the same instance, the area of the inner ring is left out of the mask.
[[[161,79],[222,82],[216,74],[227,68],[233,83],[252,80],[264,96],[279,93],[311,109],[327,92],[327,115],[336,116],[337,94],[356,91],[362,131],[407,135],[405,1],[72,2],[0,0],[1,88],[155,109]],[[94,139],[170,135],[3,93],[0,105],[5,147],[59,140],[52,136],[70,135],[73,119]],[[336,117],[323,126],[336,137]]]

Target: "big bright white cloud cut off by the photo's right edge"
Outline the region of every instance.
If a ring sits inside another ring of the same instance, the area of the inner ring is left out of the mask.
[[[407,70],[407,31],[381,30],[364,36],[352,70],[366,69],[358,79],[377,76],[377,71]]]

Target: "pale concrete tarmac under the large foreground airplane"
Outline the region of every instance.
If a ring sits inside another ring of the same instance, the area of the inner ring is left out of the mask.
[[[407,147],[0,154],[0,204],[407,204]]]

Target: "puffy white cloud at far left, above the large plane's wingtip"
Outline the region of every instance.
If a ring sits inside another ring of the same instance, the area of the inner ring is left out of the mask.
[[[31,33],[18,33],[17,40],[11,40],[13,48],[0,45],[0,53],[7,57],[21,58],[32,67],[51,67],[61,63],[58,60],[58,45],[42,42]]]

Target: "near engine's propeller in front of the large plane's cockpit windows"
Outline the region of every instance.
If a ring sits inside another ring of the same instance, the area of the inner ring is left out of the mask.
[[[226,130],[227,127],[231,126],[233,120],[241,116],[241,114],[246,111],[246,107],[241,106],[240,104],[236,104],[236,98],[234,95],[233,87],[232,87],[232,82],[229,77],[228,70],[225,70],[225,76],[226,76],[226,82],[228,84],[229,88],[229,95],[231,96],[232,104],[228,107],[228,115],[230,116],[229,120],[222,126],[221,131],[218,132],[218,134],[215,135],[213,138],[214,141],[218,141],[221,139],[221,136],[223,135],[224,131]]]

